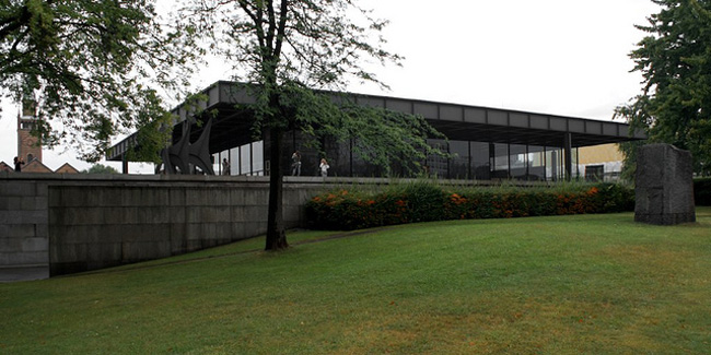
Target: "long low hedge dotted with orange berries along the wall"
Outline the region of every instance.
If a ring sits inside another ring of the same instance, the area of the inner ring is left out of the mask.
[[[634,210],[634,191],[614,184],[572,189],[463,189],[411,184],[380,193],[337,189],[306,203],[310,227],[361,229],[468,218],[511,218]]]

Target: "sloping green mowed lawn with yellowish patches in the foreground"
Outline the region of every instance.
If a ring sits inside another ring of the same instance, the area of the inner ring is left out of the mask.
[[[295,232],[323,240],[0,284],[0,353],[708,354],[711,209],[697,217]]]

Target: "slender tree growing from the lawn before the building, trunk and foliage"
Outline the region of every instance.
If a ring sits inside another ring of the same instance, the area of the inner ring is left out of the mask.
[[[349,81],[385,86],[365,60],[399,63],[383,49],[380,31],[387,21],[352,0],[193,0],[187,24],[201,25],[209,45],[232,60],[250,83],[256,130],[269,142],[270,184],[266,250],[288,247],[282,221],[282,145],[289,129],[340,140],[356,138],[365,158],[384,166],[392,159],[416,162],[432,152],[434,130],[420,117],[351,105],[337,94]],[[387,138],[386,141],[384,138]]]

